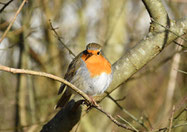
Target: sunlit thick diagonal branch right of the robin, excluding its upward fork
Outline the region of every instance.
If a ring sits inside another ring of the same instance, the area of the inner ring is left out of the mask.
[[[158,0],[155,1],[159,2]],[[153,15],[151,14],[151,16]],[[117,86],[129,79],[134,73],[150,62],[162,51],[163,46],[170,44],[177,39],[178,36],[185,34],[187,31],[187,19],[180,20],[177,23],[172,22],[170,31],[167,29],[159,33],[149,33],[133,49],[129,50],[115,62],[112,65],[114,79],[107,92],[111,93]],[[104,93],[98,100],[103,99],[106,95],[107,94]]]

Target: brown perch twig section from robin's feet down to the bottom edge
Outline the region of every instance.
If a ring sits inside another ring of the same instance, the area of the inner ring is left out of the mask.
[[[105,114],[113,123],[115,123],[119,127],[125,128],[125,129],[133,131],[133,132],[136,132],[134,129],[126,126],[125,124],[122,124],[122,123],[118,122],[114,117],[112,117],[110,114],[105,112],[101,107],[95,106],[95,105],[93,107],[96,108],[98,111],[102,112],[103,114]]]

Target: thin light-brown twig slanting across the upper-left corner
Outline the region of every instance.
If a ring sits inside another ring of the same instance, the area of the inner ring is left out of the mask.
[[[2,35],[1,39],[0,39],[0,44],[1,42],[3,41],[3,39],[6,37],[8,31],[10,30],[10,28],[12,27],[13,23],[15,22],[16,20],[16,17],[18,16],[18,14],[20,13],[21,9],[23,8],[24,4],[27,2],[27,0],[23,0],[23,2],[21,3],[21,5],[19,6],[16,14],[14,15],[14,17],[12,18],[10,24],[8,25],[6,31],[4,32],[4,34]]]

